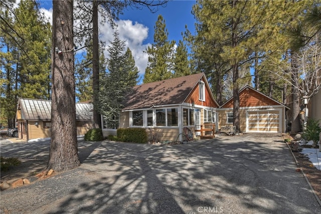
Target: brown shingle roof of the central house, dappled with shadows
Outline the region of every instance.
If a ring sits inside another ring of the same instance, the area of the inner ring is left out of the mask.
[[[181,104],[204,73],[135,86],[126,96],[123,110],[151,108],[154,105]]]

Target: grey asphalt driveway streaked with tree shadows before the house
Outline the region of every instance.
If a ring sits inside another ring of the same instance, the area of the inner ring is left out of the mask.
[[[80,167],[2,191],[2,211],[321,213],[279,134],[166,146],[82,141],[79,147]],[[2,145],[1,154],[9,148]]]

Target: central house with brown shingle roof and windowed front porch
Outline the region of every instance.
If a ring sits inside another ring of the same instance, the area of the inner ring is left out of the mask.
[[[182,141],[185,127],[194,137],[213,137],[217,129],[219,105],[204,73],[135,86],[125,100],[119,127],[152,130],[157,140]]]

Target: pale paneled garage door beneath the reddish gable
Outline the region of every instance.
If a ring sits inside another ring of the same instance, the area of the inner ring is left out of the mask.
[[[247,111],[247,132],[280,132],[279,110]]]

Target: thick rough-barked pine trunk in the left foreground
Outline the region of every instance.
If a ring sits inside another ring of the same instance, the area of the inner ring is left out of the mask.
[[[51,142],[48,169],[80,165],[77,147],[73,1],[53,1]],[[58,48],[62,53],[56,52]]]

